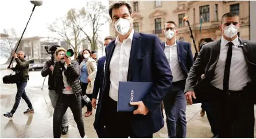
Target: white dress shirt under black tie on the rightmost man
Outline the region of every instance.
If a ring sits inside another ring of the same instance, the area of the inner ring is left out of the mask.
[[[218,89],[223,90],[223,77],[224,69],[227,58],[228,43],[226,39],[222,37],[220,43],[220,55],[215,68],[215,75],[211,81],[211,85],[215,86]],[[232,58],[230,65],[230,78],[229,78],[229,89],[233,91],[242,90],[246,86],[247,82],[250,82],[250,77],[248,75],[248,66],[243,54],[242,47],[240,45],[238,37],[232,41],[234,44],[232,46]]]

